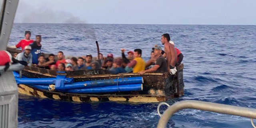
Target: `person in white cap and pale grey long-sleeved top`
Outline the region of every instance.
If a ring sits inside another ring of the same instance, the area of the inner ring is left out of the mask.
[[[31,66],[32,65],[31,46],[25,46],[24,51],[20,52],[16,56],[16,60],[25,61],[28,63],[28,66]]]

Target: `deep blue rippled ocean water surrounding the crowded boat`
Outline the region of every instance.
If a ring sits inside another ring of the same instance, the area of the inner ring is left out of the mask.
[[[256,26],[244,25],[132,25],[132,24],[14,24],[9,45],[42,35],[42,50],[56,54],[121,56],[120,49],[142,49],[148,60],[161,35],[169,33],[184,55],[183,97],[168,100],[200,100],[256,108]],[[163,46],[162,46],[163,48]],[[158,103],[76,103],[19,96],[19,128],[155,128]],[[166,107],[162,107],[164,111]],[[181,110],[169,128],[250,128],[249,118],[200,110]]]

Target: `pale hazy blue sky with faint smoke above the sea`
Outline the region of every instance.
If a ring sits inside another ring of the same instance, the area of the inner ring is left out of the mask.
[[[20,0],[14,22],[256,25],[256,0]]]

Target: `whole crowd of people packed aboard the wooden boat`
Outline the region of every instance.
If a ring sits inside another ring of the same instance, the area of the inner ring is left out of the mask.
[[[65,59],[64,53],[59,51],[57,59],[54,54],[46,56],[41,53],[42,36],[36,35],[36,40],[30,39],[31,32],[25,32],[25,39],[21,40],[15,46],[8,48],[22,48],[22,52],[14,54],[14,57],[20,61],[28,62],[28,66],[45,68],[58,71],[76,71],[76,70],[94,70],[105,69],[111,74],[133,72],[143,75],[150,72],[170,72],[176,73],[176,66],[183,60],[183,54],[180,50],[174,47],[174,42],[170,41],[169,34],[163,34],[161,42],[164,45],[164,50],[158,45],[152,48],[150,60],[145,62],[142,59],[142,50],[137,48],[134,51],[128,51],[128,56],[125,55],[125,49],[121,49],[122,58],[114,58],[113,54],[108,54],[106,57],[103,54],[99,55],[96,60],[93,60],[91,54],[81,57],[72,57]]]

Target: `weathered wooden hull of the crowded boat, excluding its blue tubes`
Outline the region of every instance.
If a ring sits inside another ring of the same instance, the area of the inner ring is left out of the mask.
[[[20,50],[7,49],[11,54]],[[47,55],[46,55],[47,56]],[[146,73],[143,78],[141,91],[109,92],[109,93],[70,93],[58,90],[44,90],[30,84],[18,84],[19,93],[40,98],[55,100],[68,100],[74,102],[90,101],[129,101],[129,102],[162,102],[172,98],[178,98],[184,94],[183,64],[177,67],[177,73],[170,75],[165,73]],[[74,82],[86,82],[92,80],[111,80],[118,78],[141,77],[136,73],[110,74],[108,70],[78,70],[73,72],[56,72],[32,66],[26,66],[21,72],[27,78],[56,78],[65,76],[73,78]],[[118,85],[117,85],[118,87]]]

